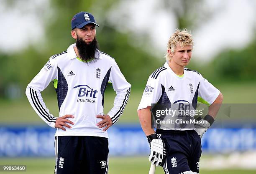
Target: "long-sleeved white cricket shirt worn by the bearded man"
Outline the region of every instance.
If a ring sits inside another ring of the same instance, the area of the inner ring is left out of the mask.
[[[107,83],[113,84],[117,94],[113,108],[107,113],[113,124],[123,113],[131,85],[109,55],[99,51],[97,61],[87,64],[77,58],[74,46],[75,44],[72,44],[67,51],[51,56],[28,84],[26,95],[41,119],[54,128],[56,117],[50,114],[40,93],[53,81],[58,98],[59,116],[74,115],[73,119],[69,118],[74,122],[74,125],[69,124],[72,128],[67,128],[66,131],[57,129],[55,136],[108,137],[107,131],[103,132],[103,128],[96,125],[102,120],[97,119],[96,115],[103,115]]]

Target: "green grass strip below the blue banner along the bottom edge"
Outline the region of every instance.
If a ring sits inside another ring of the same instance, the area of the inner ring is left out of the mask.
[[[207,160],[202,158],[201,160]],[[0,159],[0,165],[27,165],[26,172],[0,172],[0,174],[52,174],[54,173],[54,158],[6,158]],[[65,165],[65,164],[64,164]],[[147,174],[150,163],[146,156],[110,157],[109,174]],[[200,170],[200,174],[255,174],[255,170],[225,169]],[[164,174],[161,167],[156,168],[156,174]]]

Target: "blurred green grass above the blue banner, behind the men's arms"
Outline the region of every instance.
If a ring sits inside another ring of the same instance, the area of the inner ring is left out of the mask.
[[[256,103],[256,83],[229,83],[215,85],[223,93],[223,103]],[[111,88],[111,86],[108,86]],[[138,123],[137,107],[141,100],[143,89],[131,88],[131,96],[118,123]],[[44,97],[44,93],[43,93]],[[105,108],[107,113],[113,107],[115,92],[108,90],[105,93]],[[46,106],[54,116],[58,116],[56,96],[44,97]],[[26,98],[16,101],[0,101],[2,116],[1,124],[44,124],[32,109]]]

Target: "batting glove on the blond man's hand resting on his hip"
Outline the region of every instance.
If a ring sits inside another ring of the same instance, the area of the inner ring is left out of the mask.
[[[195,129],[196,129],[195,131],[200,136],[200,138],[202,138],[202,135],[205,134],[205,132],[208,130],[210,126],[212,126],[214,119],[212,116],[206,115],[204,119],[202,119],[201,117],[198,117],[196,120],[202,122],[200,124],[195,124]],[[207,123],[204,123],[205,121]]]

